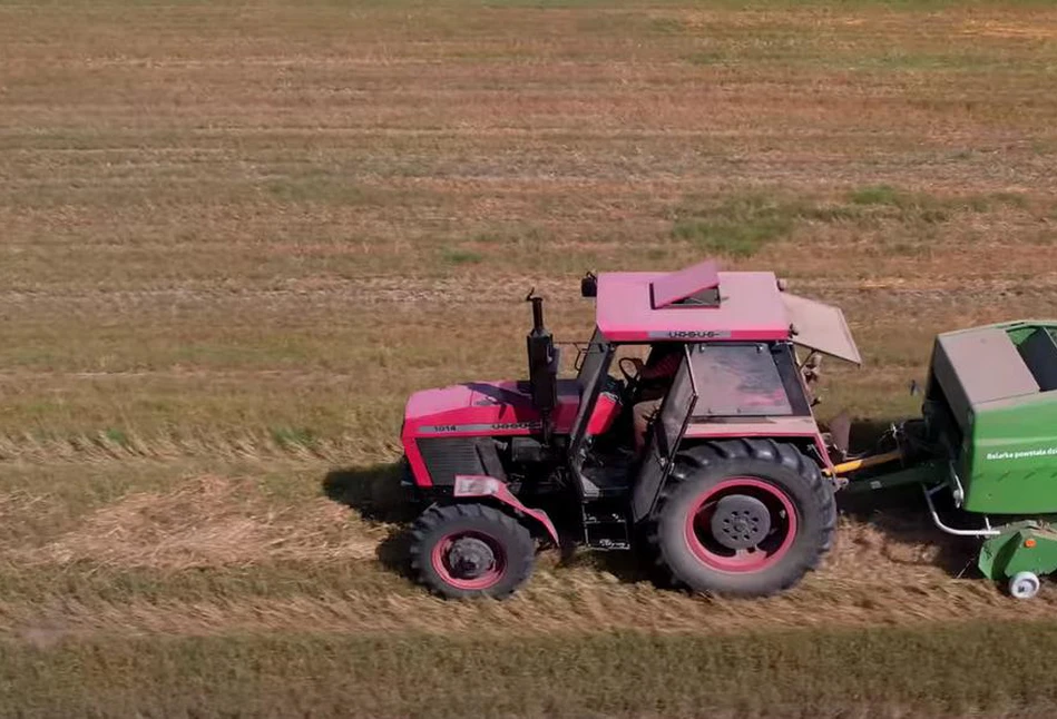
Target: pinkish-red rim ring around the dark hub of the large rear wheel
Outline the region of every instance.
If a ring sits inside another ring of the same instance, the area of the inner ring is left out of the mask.
[[[733,550],[721,544],[711,529],[715,506],[724,496],[742,494],[762,501],[771,515],[771,532],[755,546]],[[686,514],[686,543],[702,563],[732,573],[760,572],[776,564],[796,538],[796,511],[781,489],[755,477],[724,480],[705,490]]]

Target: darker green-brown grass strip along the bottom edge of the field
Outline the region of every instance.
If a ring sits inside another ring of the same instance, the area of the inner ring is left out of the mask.
[[[0,643],[3,716],[815,719],[1057,709],[1053,622],[743,637],[48,639]]]

